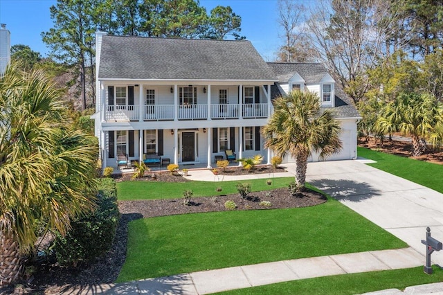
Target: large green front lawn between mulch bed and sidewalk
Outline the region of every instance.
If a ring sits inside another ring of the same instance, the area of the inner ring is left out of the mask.
[[[306,208],[147,218],[128,231],[118,282],[407,246],[331,198]]]

